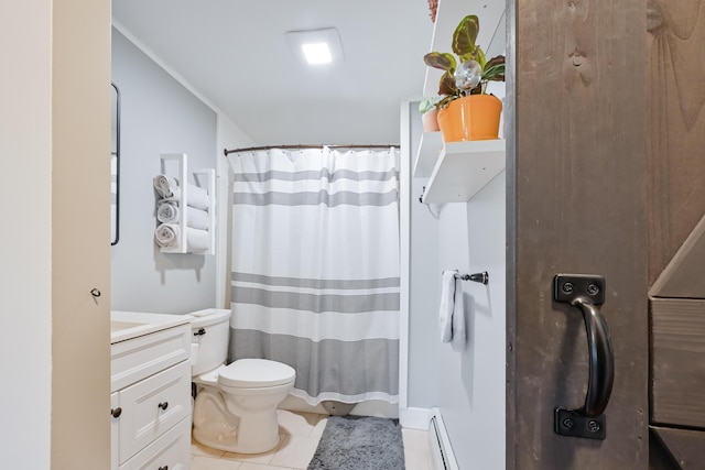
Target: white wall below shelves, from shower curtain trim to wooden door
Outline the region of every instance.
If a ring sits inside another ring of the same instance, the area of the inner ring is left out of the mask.
[[[503,96],[503,84],[492,91]],[[417,110],[410,108],[412,159],[422,134],[420,121]],[[460,469],[503,469],[505,172],[466,204],[420,204],[426,182],[413,178],[410,197],[408,406],[441,409]],[[468,339],[462,352],[440,340],[444,270],[487,271],[490,276],[487,286],[463,283]]]

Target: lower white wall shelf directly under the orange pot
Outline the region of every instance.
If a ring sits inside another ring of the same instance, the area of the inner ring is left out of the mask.
[[[505,151],[503,139],[445,143],[426,184],[422,203],[469,200],[505,168]]]

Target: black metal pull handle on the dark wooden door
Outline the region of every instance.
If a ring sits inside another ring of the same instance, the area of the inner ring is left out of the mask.
[[[554,430],[562,436],[605,439],[607,408],[615,382],[615,353],[605,317],[598,305],[605,303],[605,278],[584,274],[558,274],[554,278],[554,299],[581,309],[587,332],[589,375],[585,403],[578,409],[557,407]]]

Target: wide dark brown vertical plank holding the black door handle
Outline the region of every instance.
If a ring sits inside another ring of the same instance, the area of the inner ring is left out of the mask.
[[[508,20],[507,468],[647,469],[646,4],[527,0]],[[588,382],[582,311],[553,299],[558,273],[605,277],[604,440],[554,431]]]

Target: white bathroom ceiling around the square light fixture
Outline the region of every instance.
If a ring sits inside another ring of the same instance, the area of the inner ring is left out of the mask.
[[[112,18],[259,145],[399,143],[433,35],[425,0],[112,0]],[[284,33],[330,26],[345,62],[302,65]]]

